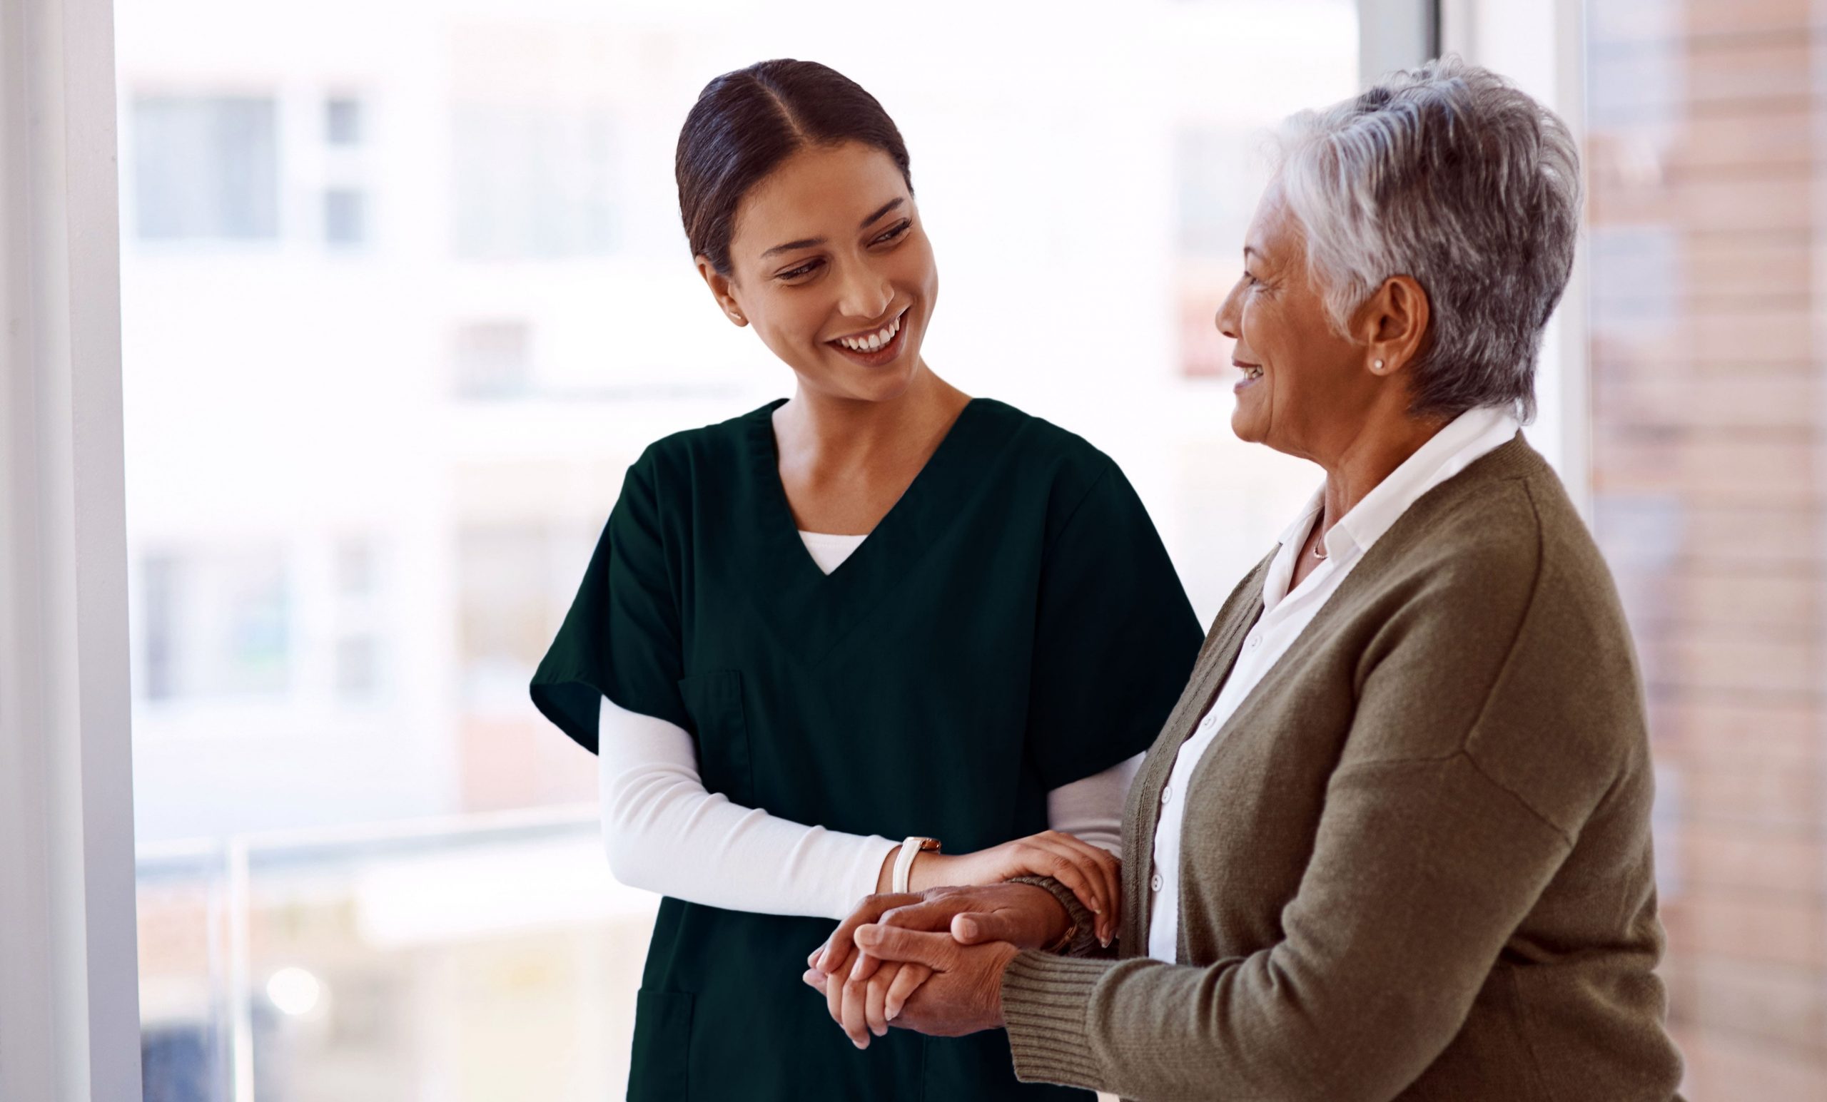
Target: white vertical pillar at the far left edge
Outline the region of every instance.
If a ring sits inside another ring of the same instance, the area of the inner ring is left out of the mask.
[[[110,0],[0,4],[0,1098],[137,1102]]]

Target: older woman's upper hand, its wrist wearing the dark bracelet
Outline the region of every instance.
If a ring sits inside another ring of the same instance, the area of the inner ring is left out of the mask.
[[[857,941],[862,930],[870,930],[870,938],[882,930],[932,934],[957,947],[1003,943],[1012,956],[1018,949],[1058,941],[1069,925],[1071,920],[1051,892],[1023,883],[870,896],[811,952],[804,978],[824,993],[831,1020],[851,1044],[864,1049],[871,1034],[888,1033],[890,1022],[904,1025],[897,1022],[903,1007],[932,978],[934,969],[924,960],[884,960],[870,952]],[[919,1020],[926,1022],[930,1014]]]

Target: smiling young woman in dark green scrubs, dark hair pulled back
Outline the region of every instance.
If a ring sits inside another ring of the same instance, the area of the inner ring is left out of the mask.
[[[718,310],[797,387],[636,460],[532,684],[599,754],[612,872],[665,896],[628,1098],[1087,1100],[1001,1031],[859,1051],[804,952],[870,892],[1019,874],[1114,934],[1107,850],[1202,639],[1173,564],[1105,454],[921,358],[937,270],[870,93],[718,77],[676,172]]]

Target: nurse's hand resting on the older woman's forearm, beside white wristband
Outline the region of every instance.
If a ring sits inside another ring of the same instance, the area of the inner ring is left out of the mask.
[[[892,859],[882,861],[882,876]],[[1078,896],[1096,920],[1098,941],[1116,940],[1122,914],[1124,863],[1114,854],[1063,830],[1041,830],[974,854],[919,854],[908,885],[919,892],[943,885],[998,885],[1014,876],[1051,876]],[[877,881],[886,890],[886,879]]]

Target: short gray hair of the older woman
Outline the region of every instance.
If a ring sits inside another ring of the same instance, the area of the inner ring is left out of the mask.
[[[1542,327],[1579,235],[1568,126],[1496,73],[1443,57],[1290,117],[1279,153],[1308,270],[1341,334],[1390,276],[1427,290],[1410,412],[1513,405],[1533,420]]]

